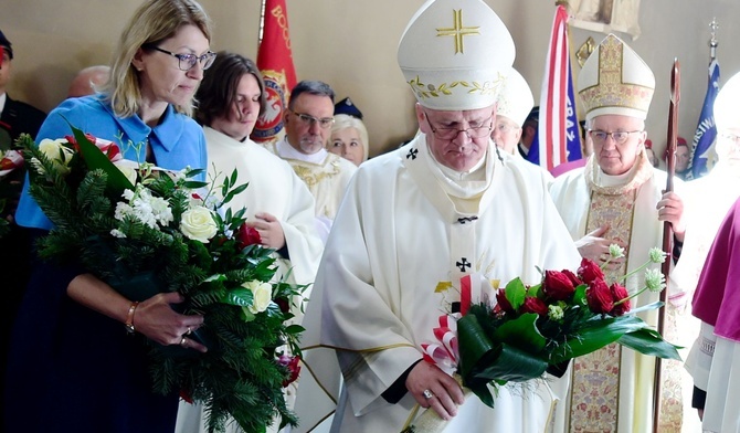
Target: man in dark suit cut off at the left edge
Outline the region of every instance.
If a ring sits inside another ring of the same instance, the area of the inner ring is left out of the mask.
[[[15,139],[21,134],[35,138],[46,115],[29,104],[13,101],[6,93],[13,68],[13,47],[0,31],[0,159],[6,151],[15,149]],[[3,274],[0,303],[0,387],[4,388],[6,355],[18,307],[25,292],[31,272],[31,233],[13,222],[25,170],[17,168],[0,178],[0,219],[6,220],[6,233],[0,235],[0,266]],[[0,420],[2,424],[2,420]]]

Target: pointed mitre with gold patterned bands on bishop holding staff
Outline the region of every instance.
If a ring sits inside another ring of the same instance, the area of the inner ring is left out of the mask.
[[[614,34],[601,41],[578,74],[586,120],[606,114],[644,120],[654,91],[653,71]]]

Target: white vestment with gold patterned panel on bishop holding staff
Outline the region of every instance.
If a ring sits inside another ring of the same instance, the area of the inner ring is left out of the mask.
[[[604,175],[592,157],[584,168],[557,178],[551,194],[573,241],[609,225],[604,236],[627,244],[624,266],[606,274],[612,283],[642,266],[651,247],[662,247],[664,223],[658,221],[656,205],[665,184],[665,172],[653,169],[644,155],[622,176]],[[644,274],[634,274],[622,284],[635,293],[645,286]],[[658,299],[659,294],[646,291],[633,298],[632,305],[634,308]],[[639,316],[657,326],[657,310]],[[664,331],[668,340],[675,338],[674,316],[675,309],[668,308]],[[556,431],[652,431],[654,357],[614,344],[575,359],[570,370],[571,389],[567,404],[559,406]],[[683,411],[680,363],[664,360],[662,371],[660,432],[678,433]]]

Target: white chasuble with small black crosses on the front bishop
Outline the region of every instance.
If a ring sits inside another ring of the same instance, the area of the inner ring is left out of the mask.
[[[326,408],[338,402],[334,431],[400,432],[421,413],[409,393],[395,404],[381,394],[422,358],[421,345],[434,341],[440,315],[459,300],[454,289],[436,293],[437,283],[478,272],[536,284],[537,266],[578,267],[547,177],[527,161],[503,159],[489,154],[468,178],[452,180],[420,135],[359,168],[327,241],[303,340],[316,390],[326,391],[308,400]],[[336,358],[327,349],[336,349]],[[337,359],[341,397],[331,368]],[[500,388],[495,409],[472,395],[446,431],[543,432],[559,397],[546,381]],[[298,415],[306,421],[304,413]],[[313,420],[299,431],[325,415],[309,413]]]

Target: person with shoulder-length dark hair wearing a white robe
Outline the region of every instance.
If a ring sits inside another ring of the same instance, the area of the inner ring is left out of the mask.
[[[236,184],[249,182],[249,187],[229,207],[246,208],[247,225],[260,233],[263,246],[275,250],[277,277],[309,284],[324,252],[315,232],[314,197],[287,162],[249,138],[265,106],[264,88],[254,62],[218,53],[195,95],[195,118],[203,125],[208,146],[209,181],[218,193],[223,180],[237,170]],[[300,299],[293,304],[295,320],[300,323]],[[287,390],[286,395],[295,395],[294,391]],[[204,432],[204,419],[200,405],[181,402],[176,431]],[[236,423],[228,429],[237,429]]]

